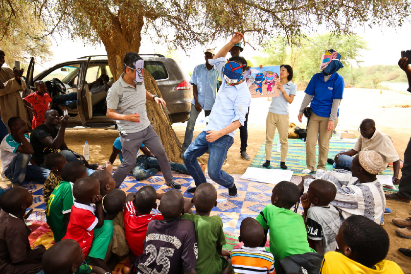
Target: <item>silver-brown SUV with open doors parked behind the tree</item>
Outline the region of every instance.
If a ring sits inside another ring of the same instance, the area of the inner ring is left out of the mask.
[[[144,68],[153,75],[166,102],[167,112],[172,123],[188,120],[191,109],[192,89],[189,75],[183,71],[172,58],[160,54],[141,54]],[[34,60],[32,58],[27,69],[27,84],[30,92],[34,91],[34,82],[42,80],[47,91],[54,100],[61,94],[69,94],[71,101],[54,104],[60,114],[67,110],[70,115],[69,126],[110,127],[115,121],[106,116],[107,91],[92,93],[89,83],[94,82],[101,74],[110,72],[106,55],[84,56],[73,61],[61,63],[44,70],[33,77]],[[109,82],[110,84],[110,82]],[[27,91],[26,91],[27,92]],[[73,94],[73,92],[75,92]],[[72,95],[72,96],[70,96]],[[60,97],[61,98],[61,97]]]

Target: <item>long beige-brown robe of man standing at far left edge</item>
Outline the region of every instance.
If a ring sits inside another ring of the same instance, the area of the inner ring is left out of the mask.
[[[24,91],[27,86],[21,79],[22,85],[14,79],[11,68],[0,67],[0,81],[4,83],[4,89],[0,90],[0,111],[1,120],[6,124],[13,116],[19,116],[27,121],[24,103],[19,91]],[[10,129],[7,126],[8,131]]]

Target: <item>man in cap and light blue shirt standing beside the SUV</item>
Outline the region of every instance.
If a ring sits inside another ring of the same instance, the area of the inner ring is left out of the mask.
[[[206,117],[210,115],[215,102],[218,71],[214,66],[208,63],[208,60],[214,57],[214,50],[211,48],[207,49],[206,52],[204,52],[204,57],[206,64],[196,66],[190,79],[190,83],[193,85],[193,101],[191,102],[190,118],[185,128],[183,151],[181,152],[182,158],[184,152],[193,141],[194,125],[198,114],[204,110]]]

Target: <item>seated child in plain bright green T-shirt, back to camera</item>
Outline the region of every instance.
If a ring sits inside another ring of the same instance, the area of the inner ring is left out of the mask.
[[[294,254],[314,252],[308,245],[304,219],[290,208],[297,204],[300,190],[291,182],[282,181],[274,186],[271,205],[267,205],[256,220],[267,235],[270,229],[270,251],[274,255],[274,266],[282,258]],[[266,239],[262,243],[265,245]]]

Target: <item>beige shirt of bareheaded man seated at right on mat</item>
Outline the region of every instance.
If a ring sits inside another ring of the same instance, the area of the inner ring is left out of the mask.
[[[379,172],[380,174],[386,170],[388,162],[400,160],[400,157],[392,144],[391,137],[378,129],[375,130],[374,135],[369,139],[360,135],[352,149],[358,152],[367,150],[378,152],[384,160],[383,167]]]

